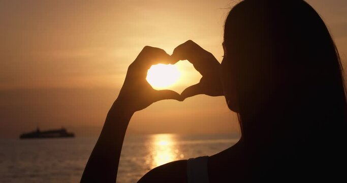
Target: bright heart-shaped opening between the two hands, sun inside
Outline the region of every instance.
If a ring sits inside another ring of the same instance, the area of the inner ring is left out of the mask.
[[[154,89],[170,89],[181,93],[185,88],[199,83],[201,77],[193,64],[180,60],[175,65],[152,65],[146,80]]]

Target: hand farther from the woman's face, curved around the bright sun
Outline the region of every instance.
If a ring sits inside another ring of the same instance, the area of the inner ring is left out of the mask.
[[[177,61],[176,61],[177,62]],[[131,112],[142,110],[154,102],[164,99],[182,101],[172,90],[155,90],[146,81],[148,69],[155,64],[175,64],[172,57],[160,48],[145,46],[129,66],[124,84],[116,101]]]

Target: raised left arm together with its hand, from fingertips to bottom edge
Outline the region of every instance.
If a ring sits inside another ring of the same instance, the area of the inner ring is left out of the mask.
[[[115,182],[123,139],[134,112],[156,101],[181,100],[176,92],[154,90],[146,81],[147,70],[158,63],[174,64],[164,50],[146,46],[129,66],[124,84],[107,114],[81,182]]]

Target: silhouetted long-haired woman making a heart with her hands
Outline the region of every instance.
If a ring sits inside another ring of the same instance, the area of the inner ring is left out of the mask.
[[[345,179],[343,168],[337,168],[346,163],[342,67],[317,12],[299,0],[243,1],[227,17],[223,47],[219,64],[193,41],[179,45],[171,56],[146,46],[128,69],[81,181],[115,182],[135,111],[159,100],[182,101],[198,94],[225,96],[239,116],[239,142],[211,157],[154,168],[139,182]],[[154,90],[146,82],[151,65],[184,59],[203,77],[181,95]]]

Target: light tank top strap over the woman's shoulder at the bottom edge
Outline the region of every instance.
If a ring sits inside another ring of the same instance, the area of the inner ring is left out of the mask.
[[[208,183],[208,156],[190,158],[187,161],[188,183]]]

